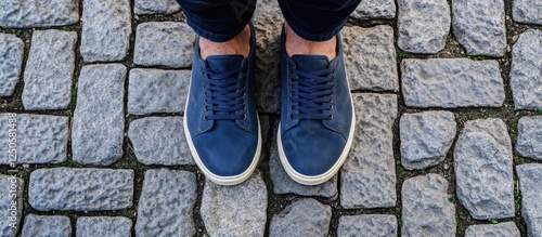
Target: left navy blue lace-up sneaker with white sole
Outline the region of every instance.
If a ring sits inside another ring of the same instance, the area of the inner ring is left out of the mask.
[[[240,184],[256,169],[261,133],[254,94],[255,31],[250,53],[199,56],[196,39],[184,133],[196,164],[221,185]]]

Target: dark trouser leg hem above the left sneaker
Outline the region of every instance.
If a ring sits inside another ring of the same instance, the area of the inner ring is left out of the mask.
[[[224,42],[237,36],[256,9],[256,0],[177,1],[194,31],[214,42]]]

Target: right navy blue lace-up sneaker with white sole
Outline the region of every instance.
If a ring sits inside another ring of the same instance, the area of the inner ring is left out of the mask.
[[[288,57],[282,32],[281,124],[278,144],[286,173],[305,185],[335,175],[350,150],[354,113],[337,35],[337,56]]]

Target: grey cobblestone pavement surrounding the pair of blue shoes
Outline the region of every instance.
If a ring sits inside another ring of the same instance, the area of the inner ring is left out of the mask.
[[[363,0],[343,31],[356,141],[302,186],[275,148],[282,16],[259,1],[263,159],[223,187],[181,128],[194,35],[173,0],[1,0],[0,236],[541,237],[541,10]]]

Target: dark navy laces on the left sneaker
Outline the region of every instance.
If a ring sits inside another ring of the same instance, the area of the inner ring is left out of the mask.
[[[204,69],[204,96],[207,114],[206,120],[245,119],[246,114],[236,113],[245,109],[244,67],[227,73]]]

